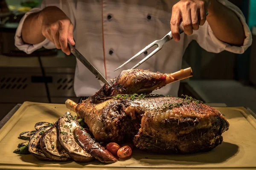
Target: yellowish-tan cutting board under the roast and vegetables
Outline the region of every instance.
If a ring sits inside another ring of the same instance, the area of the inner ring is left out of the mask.
[[[216,108],[225,115],[230,128],[223,133],[224,142],[206,153],[161,155],[133,150],[132,158],[104,164],[100,161],[81,163],[39,161],[33,155],[13,153],[23,140],[23,131],[34,130],[37,122],[55,122],[69,111],[64,104],[24,102],[0,130],[0,169],[75,170],[91,169],[179,169],[179,170],[244,170],[256,169],[256,119],[243,107]],[[73,115],[76,113],[70,111]]]

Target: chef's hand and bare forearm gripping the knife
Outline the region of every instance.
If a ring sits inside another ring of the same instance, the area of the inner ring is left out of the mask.
[[[60,8],[49,6],[44,8],[39,16],[42,24],[42,34],[53,42],[57,49],[61,49],[65,54],[70,55],[67,40],[75,45],[73,38],[73,24],[67,15]]]

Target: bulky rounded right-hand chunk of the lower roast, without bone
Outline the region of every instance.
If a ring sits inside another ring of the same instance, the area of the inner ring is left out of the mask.
[[[145,111],[134,138],[136,147],[159,153],[195,153],[221,144],[229,123],[219,111],[190,99],[169,99],[167,107]]]

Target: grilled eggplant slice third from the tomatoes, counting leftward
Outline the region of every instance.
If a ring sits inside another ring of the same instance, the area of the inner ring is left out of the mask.
[[[40,147],[44,154],[55,161],[68,161],[70,156],[58,139],[58,121],[41,137]]]

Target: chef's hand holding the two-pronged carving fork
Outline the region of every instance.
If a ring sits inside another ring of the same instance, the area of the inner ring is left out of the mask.
[[[171,31],[175,41],[180,40],[179,25],[183,21],[184,33],[191,35],[206,21],[206,11],[210,0],[180,0],[172,7],[170,21]]]

